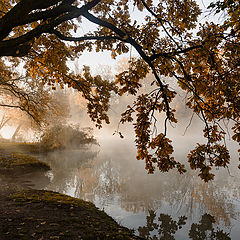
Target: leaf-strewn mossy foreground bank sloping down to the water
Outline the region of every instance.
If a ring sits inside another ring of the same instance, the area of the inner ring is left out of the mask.
[[[10,199],[24,222],[21,232],[29,228],[36,239],[142,239],[81,199],[44,190],[18,191]]]

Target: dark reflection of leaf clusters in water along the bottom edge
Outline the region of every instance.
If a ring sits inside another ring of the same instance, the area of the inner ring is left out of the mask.
[[[146,217],[146,226],[138,228],[140,237],[148,240],[174,240],[174,234],[186,224],[187,220],[187,217],[181,216],[175,221],[167,214],[160,214],[157,221],[156,216],[154,211],[149,211],[149,215]],[[225,233],[219,228],[215,229],[214,223],[213,216],[210,214],[202,215],[198,224],[191,225],[188,233],[189,238],[193,240],[230,240],[229,233]],[[156,231],[158,231],[158,236],[155,234]]]

